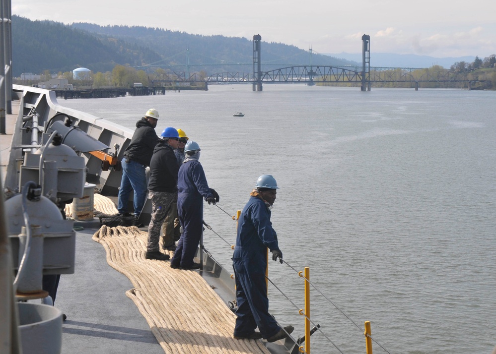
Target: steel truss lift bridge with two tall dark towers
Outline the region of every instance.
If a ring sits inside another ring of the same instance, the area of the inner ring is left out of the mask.
[[[475,83],[484,83],[484,80],[470,80],[466,73],[450,72],[449,70],[439,70],[427,72],[420,78],[415,78],[412,74],[404,72],[398,68],[382,68],[370,70],[370,36],[362,36],[362,67],[326,66],[326,65],[292,65],[270,71],[261,69],[261,41],[259,34],[253,36],[253,73],[215,73],[208,77],[203,77],[198,73],[187,76],[183,71],[171,71],[159,74],[152,80],[154,86],[168,86],[172,83],[205,82],[252,84],[253,91],[262,91],[263,83],[306,83],[314,85],[316,83],[338,83],[338,84],[359,84],[361,91],[370,91],[372,83],[410,83],[415,85],[415,90],[419,89],[419,83],[466,83],[469,88]],[[311,50],[310,50],[311,51]],[[311,52],[310,52],[311,53]],[[207,86],[206,86],[207,88]]]

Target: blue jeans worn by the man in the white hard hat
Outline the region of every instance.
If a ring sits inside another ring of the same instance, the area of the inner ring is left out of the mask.
[[[133,206],[138,217],[146,200],[145,166],[126,158],[122,159],[122,179],[119,189],[117,210],[120,214],[128,212],[129,194],[134,190]]]

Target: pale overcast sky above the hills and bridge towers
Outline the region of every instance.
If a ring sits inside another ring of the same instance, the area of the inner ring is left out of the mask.
[[[436,58],[496,53],[495,0],[12,0],[31,20],[159,27],[281,42],[316,53]]]

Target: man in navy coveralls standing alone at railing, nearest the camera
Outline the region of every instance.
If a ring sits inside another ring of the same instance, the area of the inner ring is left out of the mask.
[[[232,256],[236,281],[235,339],[260,339],[268,342],[287,337],[293,326],[281,328],[269,313],[265,270],[267,248],[272,259],[283,263],[276,231],[272,228],[271,209],[276,200],[276,179],[271,175],[258,178],[238,221],[236,246]],[[258,327],[260,332],[256,332]]]

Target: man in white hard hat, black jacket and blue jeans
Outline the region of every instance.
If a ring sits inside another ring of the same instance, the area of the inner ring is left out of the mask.
[[[136,130],[131,138],[131,143],[124,151],[122,159],[122,179],[119,188],[117,210],[123,216],[129,216],[128,200],[134,190],[134,214],[138,218],[146,200],[146,174],[145,168],[150,165],[153,149],[159,137],[155,132],[158,112],[150,109],[143,118],[136,123]]]

